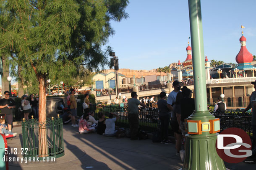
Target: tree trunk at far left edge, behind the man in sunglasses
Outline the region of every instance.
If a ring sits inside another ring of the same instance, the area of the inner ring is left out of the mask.
[[[5,91],[9,91],[9,82],[7,77],[9,76],[9,66],[6,65],[6,56],[2,55],[2,62],[3,62],[3,74],[2,74],[2,96]]]

